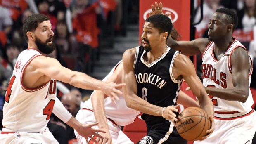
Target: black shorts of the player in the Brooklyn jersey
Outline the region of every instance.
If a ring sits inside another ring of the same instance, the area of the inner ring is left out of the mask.
[[[187,144],[187,140],[180,137],[176,127],[171,126],[166,120],[163,123],[147,125],[147,136],[143,137],[137,144]],[[169,131],[173,128],[173,131]]]

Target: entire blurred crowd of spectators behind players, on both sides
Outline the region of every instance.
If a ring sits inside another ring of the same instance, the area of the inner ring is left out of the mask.
[[[195,23],[200,19],[199,6],[200,0],[194,0]],[[138,24],[138,7],[139,0],[0,0],[0,117],[17,57],[28,48],[22,33],[26,17],[33,13],[47,15],[55,32],[56,45],[56,50],[48,57],[59,60],[64,67],[90,75],[100,49],[113,47],[114,36],[125,36],[128,23]],[[195,38],[208,38],[209,19],[222,7],[237,13],[239,21],[233,37],[247,48],[256,67],[256,0],[204,0],[203,19],[195,26]],[[201,62],[201,55],[198,55],[199,76]],[[255,79],[256,71],[253,71],[251,87],[254,88]],[[58,98],[75,116],[89,96],[82,96],[73,87],[69,89],[65,94],[58,92]],[[53,114],[47,127],[60,144],[77,144],[73,129]]]

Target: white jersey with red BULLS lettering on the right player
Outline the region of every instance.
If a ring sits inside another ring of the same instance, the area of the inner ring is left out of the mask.
[[[224,89],[232,88],[234,86],[232,83],[232,65],[230,62],[231,55],[233,50],[235,50],[237,47],[244,48],[244,46],[237,39],[235,39],[219,61],[214,58],[213,47],[214,42],[210,42],[203,53],[203,85],[205,87],[216,87]],[[250,56],[248,61],[251,65],[250,72],[248,73],[250,85],[252,72],[252,61]],[[211,95],[209,95],[209,97],[211,98],[214,105],[215,118],[226,118],[226,120],[229,120],[234,117],[237,118],[239,116],[245,116],[246,114],[253,112],[251,106],[254,101],[252,99],[250,89],[249,96],[245,103],[238,101],[228,101],[218,97],[213,97]]]

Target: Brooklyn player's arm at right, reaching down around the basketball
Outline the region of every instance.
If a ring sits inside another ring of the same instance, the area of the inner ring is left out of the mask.
[[[206,131],[209,134],[203,137],[203,139],[209,137],[209,135],[211,135],[214,130],[213,103],[208,97],[206,91],[204,90],[204,86],[194,70],[194,65],[192,64],[192,61],[185,55],[177,54],[174,59],[172,73],[175,79],[182,76],[186,80],[192,92],[198,98],[200,108],[206,111],[207,115],[210,117],[211,129]]]

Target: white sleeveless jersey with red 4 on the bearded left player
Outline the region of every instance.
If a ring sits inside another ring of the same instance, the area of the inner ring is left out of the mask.
[[[21,82],[26,66],[41,54],[33,49],[19,54],[7,87],[3,107],[3,132],[42,132],[50,119],[56,98],[56,80],[41,87],[26,88]]]

